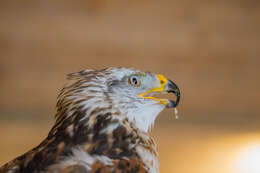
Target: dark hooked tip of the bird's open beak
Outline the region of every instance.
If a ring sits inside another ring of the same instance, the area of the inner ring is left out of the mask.
[[[167,80],[167,84],[165,85],[165,91],[168,93],[174,93],[176,96],[176,101],[170,100],[167,104],[168,108],[175,108],[178,106],[181,98],[181,92],[178,86],[171,80]]]

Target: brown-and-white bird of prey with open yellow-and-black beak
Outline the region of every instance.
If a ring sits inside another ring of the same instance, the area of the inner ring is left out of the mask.
[[[179,104],[178,86],[162,74],[126,67],[67,78],[47,137],[0,173],[159,173],[149,132],[164,108]],[[166,93],[175,99],[155,97]]]

